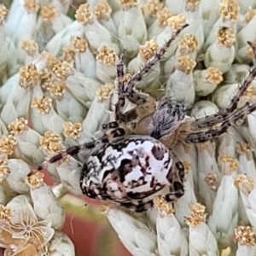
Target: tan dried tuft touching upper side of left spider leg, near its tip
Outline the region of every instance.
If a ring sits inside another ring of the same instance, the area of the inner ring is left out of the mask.
[[[53,131],[46,131],[44,133],[44,137],[40,140],[40,146],[46,149],[51,155],[54,155],[63,149],[61,146],[61,137]]]

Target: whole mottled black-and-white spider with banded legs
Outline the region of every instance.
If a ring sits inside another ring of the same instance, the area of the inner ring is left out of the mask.
[[[172,150],[173,145],[212,140],[256,110],[256,102],[247,102],[244,107],[237,108],[241,96],[256,76],[256,64],[227,108],[199,119],[185,119],[183,104],[171,102],[168,98],[156,103],[151,96],[134,90],[137,82],[164,57],[184,27],[177,29],[172,38],[126,84],[124,55],[121,55],[117,64],[119,99],[115,105],[116,120],[102,125],[105,133],[100,139],[67,148],[44,162],[38,170],[66,155],[92,149],[80,175],[80,188],[84,195],[136,212],[152,207],[156,195],[165,193],[169,202],[181,197],[184,194],[184,166]],[[256,47],[250,45],[256,53]],[[125,101],[135,103],[137,108],[124,113]],[[124,127],[131,121],[135,121],[136,127],[131,135],[127,135]]]

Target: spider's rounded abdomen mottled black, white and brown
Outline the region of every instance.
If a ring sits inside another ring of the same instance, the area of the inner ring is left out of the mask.
[[[169,150],[153,137],[115,138],[86,160],[80,186],[90,198],[142,206],[172,184],[172,161]]]

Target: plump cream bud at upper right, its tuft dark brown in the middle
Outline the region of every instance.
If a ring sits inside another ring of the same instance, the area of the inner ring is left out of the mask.
[[[234,32],[227,27],[218,30],[218,40],[209,46],[205,54],[206,67],[216,67],[226,73],[235,58]]]

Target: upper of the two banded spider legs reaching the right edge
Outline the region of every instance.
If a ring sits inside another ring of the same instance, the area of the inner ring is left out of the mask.
[[[253,53],[256,57],[256,46],[254,44],[251,44],[250,42],[247,42],[253,49]],[[230,113],[234,112],[237,108],[238,102],[241,98],[241,96],[244,95],[245,91],[247,90],[248,86],[252,83],[253,79],[256,77],[256,64],[254,63],[252,69],[247,74],[246,79],[241,83],[241,86],[239,90],[236,93],[236,96],[234,96],[227,108],[224,110],[219,111],[218,113],[211,114],[209,116],[195,119],[195,121],[191,122],[191,128],[193,130],[203,129],[207,128],[212,125],[217,125],[220,122],[223,122]]]

